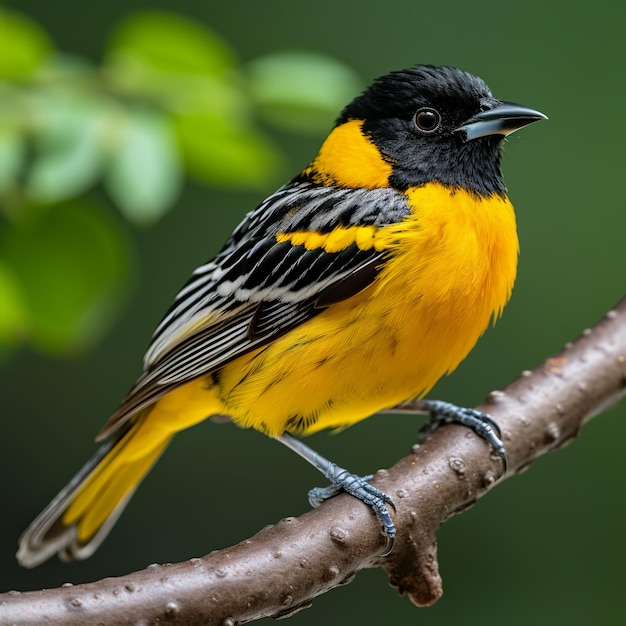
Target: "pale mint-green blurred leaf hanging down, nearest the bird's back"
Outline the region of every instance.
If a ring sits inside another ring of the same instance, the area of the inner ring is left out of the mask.
[[[151,223],[180,193],[182,165],[168,119],[146,109],[129,111],[111,156],[106,187],[120,210],[137,223]]]

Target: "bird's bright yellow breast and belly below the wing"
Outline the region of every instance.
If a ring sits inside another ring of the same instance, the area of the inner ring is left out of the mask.
[[[510,202],[439,184],[407,195],[412,214],[374,235],[390,255],[370,287],[223,368],[240,425],[313,432],[422,395],[500,315],[518,255]]]

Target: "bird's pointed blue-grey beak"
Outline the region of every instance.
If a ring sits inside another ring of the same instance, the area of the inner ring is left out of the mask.
[[[521,104],[494,99],[489,100],[485,105],[489,108],[470,117],[463,126],[457,129],[465,133],[466,141],[487,135],[506,136],[528,124],[548,119],[547,115]]]

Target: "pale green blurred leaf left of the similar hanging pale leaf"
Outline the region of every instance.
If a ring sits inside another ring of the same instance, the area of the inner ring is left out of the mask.
[[[72,93],[46,93],[35,128],[26,188],[35,202],[58,202],[95,184],[102,170],[102,103]]]

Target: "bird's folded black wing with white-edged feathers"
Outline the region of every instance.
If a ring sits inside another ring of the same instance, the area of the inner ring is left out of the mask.
[[[223,366],[369,285],[385,251],[337,252],[279,234],[382,227],[409,213],[392,189],[342,189],[297,180],[249,213],[217,257],[198,267],[157,327],[144,373],[99,438],[172,388]]]

